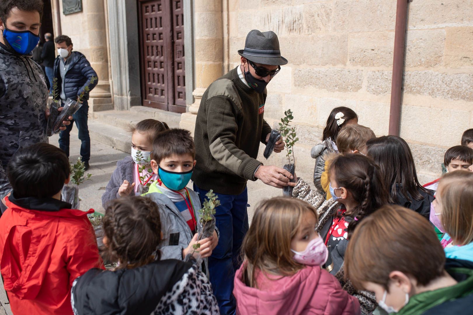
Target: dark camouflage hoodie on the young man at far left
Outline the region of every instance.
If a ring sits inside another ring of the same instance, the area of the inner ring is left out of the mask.
[[[47,142],[48,89],[32,56],[18,55],[0,43],[0,199],[11,191],[5,169],[13,154]]]

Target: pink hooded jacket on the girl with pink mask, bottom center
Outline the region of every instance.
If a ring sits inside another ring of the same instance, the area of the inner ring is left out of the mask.
[[[260,289],[247,287],[242,282],[243,268],[245,264],[235,275],[236,314],[360,314],[358,300],[320,266],[307,266],[293,276],[276,280],[260,273],[257,276]]]

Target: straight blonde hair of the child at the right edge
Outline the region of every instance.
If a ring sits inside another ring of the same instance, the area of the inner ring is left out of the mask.
[[[441,185],[441,186],[440,186]],[[442,224],[456,245],[473,241],[473,173],[455,170],[445,174],[438,190]]]

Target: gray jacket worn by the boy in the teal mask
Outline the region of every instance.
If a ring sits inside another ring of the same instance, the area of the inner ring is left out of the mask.
[[[155,192],[156,184],[149,187],[149,192],[142,196],[151,198],[159,206],[159,215],[161,217],[161,231],[163,232],[163,240],[159,246],[161,250],[161,259],[178,259],[183,260],[182,250],[189,246],[193,238],[191,228],[184,220],[179,209],[171,201],[171,199],[159,192]],[[199,218],[198,211],[201,210],[201,200],[199,195],[189,189],[189,196],[194,208],[194,217]],[[215,228],[217,235],[219,231]],[[201,264],[201,270],[209,277],[208,259],[204,258]]]

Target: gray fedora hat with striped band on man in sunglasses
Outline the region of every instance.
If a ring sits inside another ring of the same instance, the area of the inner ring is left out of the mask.
[[[240,56],[263,65],[282,66],[288,63],[281,57],[278,35],[272,31],[261,33],[251,30],[246,35],[245,49],[238,51]]]

